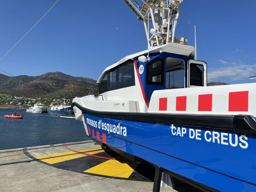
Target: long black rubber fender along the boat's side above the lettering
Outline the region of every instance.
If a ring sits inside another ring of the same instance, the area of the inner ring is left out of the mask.
[[[252,115],[192,115],[172,113],[104,112],[82,107],[77,102],[73,102],[71,106],[76,106],[81,111],[98,117],[204,127],[210,129],[223,129],[236,131],[238,133],[249,133],[256,135],[256,120]]]

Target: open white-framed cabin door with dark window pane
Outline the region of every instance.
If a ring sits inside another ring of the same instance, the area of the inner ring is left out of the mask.
[[[207,86],[207,64],[204,61],[188,60],[188,87]]]

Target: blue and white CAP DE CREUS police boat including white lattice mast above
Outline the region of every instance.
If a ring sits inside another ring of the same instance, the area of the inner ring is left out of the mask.
[[[182,0],[125,2],[144,21],[148,49],[107,67],[99,96],[74,98],[86,134],[155,165],[155,191],[162,173],[203,191],[256,191],[256,84],[207,86],[207,63],[175,36]]]

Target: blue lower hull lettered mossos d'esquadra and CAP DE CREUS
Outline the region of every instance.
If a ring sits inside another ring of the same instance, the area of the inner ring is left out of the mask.
[[[86,132],[99,144],[202,186],[220,191],[256,191],[254,134],[83,114]]]

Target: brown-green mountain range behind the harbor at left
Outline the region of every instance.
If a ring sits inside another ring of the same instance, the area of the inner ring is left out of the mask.
[[[35,77],[27,75],[17,77],[19,79],[0,74],[0,94],[37,98],[52,96],[74,98],[75,96],[88,95],[90,90],[94,90],[95,94],[98,93],[96,80],[86,77],[73,77],[59,71]]]

